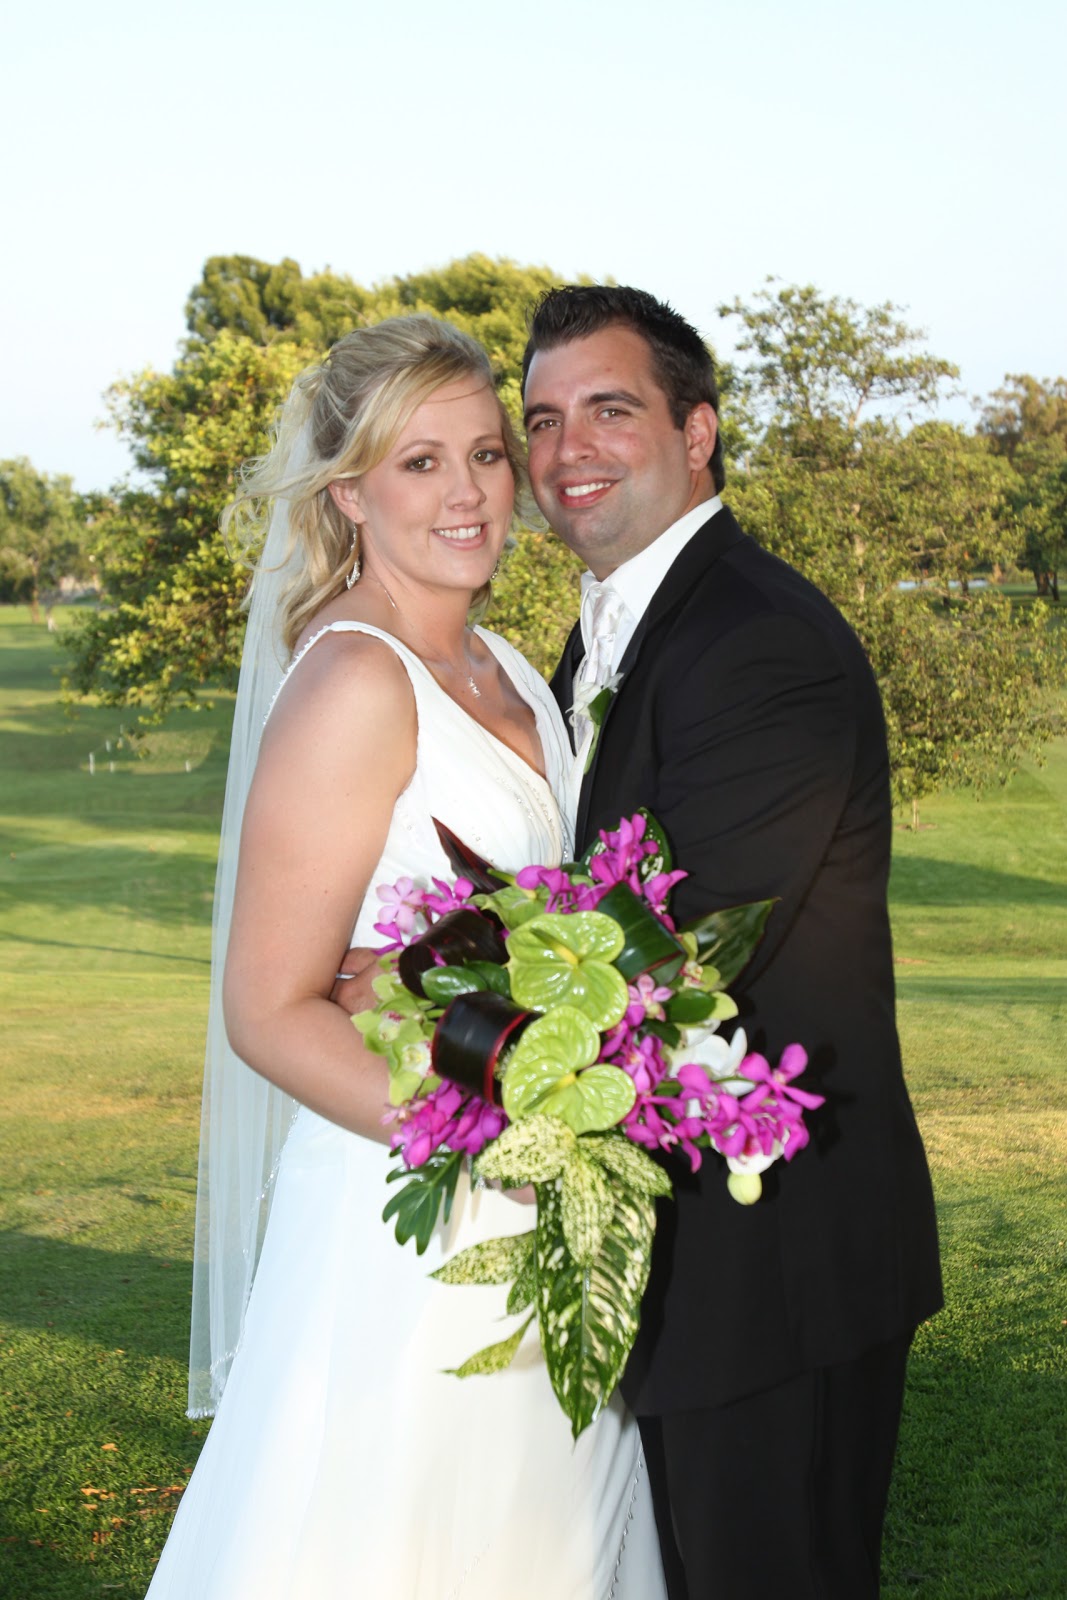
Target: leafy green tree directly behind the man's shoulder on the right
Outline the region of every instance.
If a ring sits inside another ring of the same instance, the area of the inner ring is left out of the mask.
[[[1045,688],[1064,677],[1043,611],[1014,613],[971,579],[1009,558],[1016,475],[985,437],[865,418],[928,406],[955,368],[891,306],[763,290],[725,315],[755,362],[741,382],[761,434],[728,498],[768,549],[805,571],[859,634],[878,678],[894,797],[1003,778],[1051,736]],[[905,581],[936,586],[909,594]]]

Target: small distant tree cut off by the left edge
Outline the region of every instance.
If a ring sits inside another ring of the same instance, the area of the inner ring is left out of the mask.
[[[48,477],[26,456],[0,461],[0,598],[40,600],[64,578],[91,574],[85,510],[69,477]]]

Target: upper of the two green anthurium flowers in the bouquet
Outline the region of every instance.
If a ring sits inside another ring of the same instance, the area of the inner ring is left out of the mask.
[[[574,1006],[593,1027],[614,1027],[629,1005],[625,978],[611,965],[622,946],[622,930],[611,917],[544,912],[507,941],[512,998],[537,1011]]]

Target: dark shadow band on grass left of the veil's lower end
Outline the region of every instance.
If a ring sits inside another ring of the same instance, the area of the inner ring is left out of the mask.
[[[189,1355],[190,1282],[189,1258],[0,1232],[0,1315],[13,1328],[181,1363]]]

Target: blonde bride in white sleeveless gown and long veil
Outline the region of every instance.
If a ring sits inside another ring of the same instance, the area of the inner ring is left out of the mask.
[[[152,1600],[664,1594],[621,1403],[571,1445],[536,1349],[504,1374],[446,1374],[510,1322],[493,1328],[502,1290],[429,1272],[533,1218],[461,1186],[426,1256],[400,1250],[381,1222],[384,1061],[330,1000],[341,954],[381,944],[376,888],[450,875],[432,818],[501,867],[569,850],[555,704],[467,626],[522,480],[483,350],[406,317],[298,379],[227,512],[272,507],[227,782],[197,1216],[190,1411],[218,1414]]]

